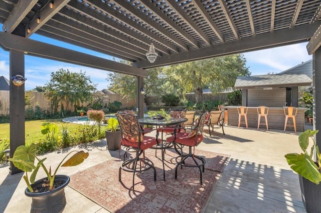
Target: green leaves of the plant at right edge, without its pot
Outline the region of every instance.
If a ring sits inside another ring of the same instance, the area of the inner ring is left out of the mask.
[[[321,155],[320,149],[317,147],[313,135],[316,134],[318,130],[306,130],[299,135],[299,145],[303,150],[303,153],[288,153],[285,154],[287,163],[291,168],[306,179],[318,184],[321,182]],[[308,153],[307,148],[309,145],[309,138],[312,138],[313,145],[311,146],[310,153]],[[316,161],[313,160],[313,152],[315,150]]]

